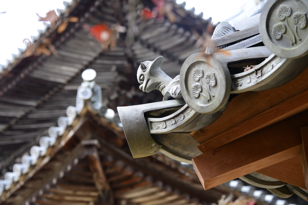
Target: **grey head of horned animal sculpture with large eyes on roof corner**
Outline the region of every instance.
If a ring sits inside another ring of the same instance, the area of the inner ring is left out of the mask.
[[[140,64],[137,71],[137,79],[140,85],[140,90],[143,92],[151,92],[152,90],[159,90],[164,95],[164,88],[172,81],[164,71],[161,65],[164,57],[157,57],[154,61],[144,61]]]

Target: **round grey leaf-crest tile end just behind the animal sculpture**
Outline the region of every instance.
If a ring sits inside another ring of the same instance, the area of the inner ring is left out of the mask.
[[[231,77],[219,60],[205,53],[195,53],[182,65],[180,87],[189,107],[199,113],[213,113],[227,102]]]

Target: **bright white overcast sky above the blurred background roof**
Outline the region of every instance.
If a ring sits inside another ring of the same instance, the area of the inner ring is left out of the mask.
[[[69,1],[69,0],[68,0]],[[177,0],[182,3],[184,0]],[[245,7],[255,5],[258,0],[188,0],[186,9],[195,7],[196,14],[203,12],[205,19],[212,17],[214,23],[228,20],[240,14]],[[38,29],[44,30],[43,22],[38,21],[38,13],[45,17],[50,10],[64,9],[63,0],[2,0],[0,1],[0,64],[7,65],[12,53],[24,49],[23,39],[37,36]],[[31,39],[30,39],[31,40]]]

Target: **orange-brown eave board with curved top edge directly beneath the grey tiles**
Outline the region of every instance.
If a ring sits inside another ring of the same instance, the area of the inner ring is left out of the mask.
[[[279,88],[245,92],[234,97],[209,126],[191,132],[202,152],[286,119],[308,108],[308,69]]]

